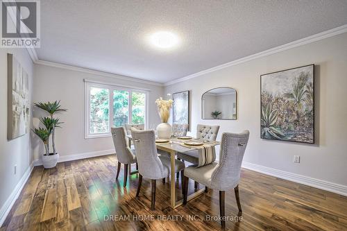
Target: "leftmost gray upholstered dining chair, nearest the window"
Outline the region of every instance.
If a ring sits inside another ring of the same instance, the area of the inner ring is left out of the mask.
[[[135,150],[131,150],[126,143],[126,134],[123,127],[111,128],[113,144],[115,144],[116,155],[118,159],[117,176],[118,179],[119,171],[121,170],[121,164],[124,164],[124,184],[126,187],[126,180],[128,178],[128,166],[136,163],[136,157],[134,155]]]

